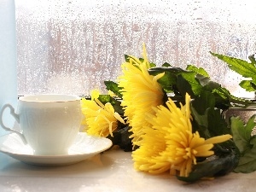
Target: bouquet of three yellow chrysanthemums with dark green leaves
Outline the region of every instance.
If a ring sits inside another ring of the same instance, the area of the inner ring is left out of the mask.
[[[144,45],[143,58],[125,55],[121,68],[116,83],[105,81],[108,95],[93,90],[82,99],[84,131],[132,151],[135,169],[186,182],[256,170],[254,116],[244,125],[222,115],[250,101],[232,96],[203,68],[156,67]]]

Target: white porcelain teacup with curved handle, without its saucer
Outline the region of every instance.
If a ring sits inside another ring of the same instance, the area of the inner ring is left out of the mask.
[[[20,132],[3,124],[6,108],[20,125]],[[69,95],[22,96],[16,113],[10,104],[3,105],[0,112],[3,129],[19,134],[37,155],[67,154],[78,135],[81,119],[80,98]]]

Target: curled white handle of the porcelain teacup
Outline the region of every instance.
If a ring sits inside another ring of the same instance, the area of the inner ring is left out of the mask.
[[[5,105],[3,105],[3,108],[0,111],[0,125],[3,127],[3,129],[5,131],[11,131],[11,132],[15,132],[16,134],[18,134],[20,136],[20,138],[22,139],[23,143],[26,144],[27,143],[26,138],[24,137],[24,135],[21,132],[15,131],[3,124],[3,111],[5,110],[5,108],[9,108],[10,114],[13,115],[13,117],[15,118],[15,120],[18,123],[20,123],[20,118],[19,118],[19,115],[17,113],[15,113],[15,108],[13,108],[13,106],[11,106],[10,104],[5,104]]]

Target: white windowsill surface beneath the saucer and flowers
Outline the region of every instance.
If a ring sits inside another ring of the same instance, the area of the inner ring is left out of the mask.
[[[198,183],[183,183],[166,174],[133,169],[131,153],[112,148],[71,166],[30,166],[0,154],[0,191],[255,191],[256,173],[230,173]]]

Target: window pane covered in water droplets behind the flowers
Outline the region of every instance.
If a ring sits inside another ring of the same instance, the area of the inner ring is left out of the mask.
[[[204,67],[231,93],[241,77],[209,51],[247,60],[256,42],[256,3],[208,0],[16,0],[19,95],[106,92],[124,55]]]

